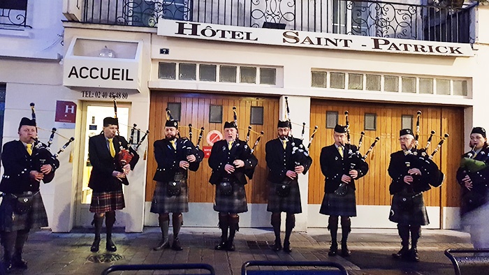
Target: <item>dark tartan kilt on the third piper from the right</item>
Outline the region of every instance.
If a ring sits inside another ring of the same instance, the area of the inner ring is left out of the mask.
[[[319,213],[329,216],[356,217],[356,197],[353,188],[348,188],[344,196],[324,193]]]

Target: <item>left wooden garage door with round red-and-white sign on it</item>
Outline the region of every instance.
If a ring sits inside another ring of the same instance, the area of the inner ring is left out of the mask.
[[[210,94],[177,94],[153,91],[151,94],[150,114],[149,114],[149,146],[147,151],[147,185],[146,201],[152,199],[156,182],[153,181],[156,171],[156,161],[154,160],[153,143],[155,140],[164,138],[164,125],[166,121],[166,107],[168,103],[181,103],[180,125],[188,126],[192,124],[195,128],[204,127],[203,140],[200,147],[209,146],[205,141],[205,135],[211,130],[224,131],[224,121],[233,120],[233,106],[237,107],[238,126],[240,140],[245,140],[247,128],[250,125],[251,106],[263,107],[263,125],[251,125],[256,132],[264,131],[265,135],[261,138],[260,144],[255,151],[258,158],[253,180],[246,186],[247,198],[249,203],[266,202],[266,164],[265,164],[265,142],[277,135],[277,118],[279,117],[278,98],[246,98],[238,96],[214,96]],[[210,123],[210,105],[222,105],[223,123]],[[182,137],[188,137],[188,127],[180,127]],[[193,131],[192,141],[196,144],[198,131]],[[249,144],[253,146],[256,137],[251,133]],[[211,169],[207,158],[200,164],[197,172],[189,172],[189,202],[214,202],[214,187],[209,183]]]

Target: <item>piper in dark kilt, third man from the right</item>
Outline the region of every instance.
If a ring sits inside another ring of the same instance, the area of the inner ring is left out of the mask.
[[[355,152],[355,145],[346,144],[347,137],[346,126],[336,125],[333,133],[335,143],[323,147],[319,163],[324,179],[324,198],[321,203],[319,213],[329,215],[328,230],[331,234],[331,246],[328,255],[335,256],[338,251],[337,232],[338,217],[341,216],[342,225],[342,250],[341,255],[347,257],[351,254],[346,242],[351,232],[350,217],[356,216],[356,197],[355,197],[355,180],[365,176],[368,172],[368,164],[365,161],[355,163],[355,168],[351,169],[348,161],[347,152]],[[346,151],[345,151],[346,149]],[[346,184],[346,186],[341,186]],[[346,187],[346,192],[335,192],[339,188]]]

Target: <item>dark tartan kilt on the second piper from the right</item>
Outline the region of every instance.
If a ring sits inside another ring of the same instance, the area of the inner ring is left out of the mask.
[[[415,194],[412,194],[415,195]],[[412,209],[401,209],[400,201],[402,196],[400,194],[394,194],[392,198],[391,214],[389,220],[394,223],[402,225],[428,225],[430,220],[428,219],[428,213],[426,212],[425,201],[423,200],[423,193],[416,195],[413,198]]]

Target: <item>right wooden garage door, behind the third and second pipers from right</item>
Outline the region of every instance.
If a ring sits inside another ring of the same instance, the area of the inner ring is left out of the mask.
[[[435,163],[446,175],[441,188],[432,188],[426,192],[427,206],[458,206],[460,188],[455,180],[455,171],[458,168],[460,156],[463,154],[463,109],[460,107],[433,107],[412,105],[389,105],[372,103],[349,103],[341,101],[312,101],[311,125],[319,126],[319,133],[312,144],[310,154],[314,160],[309,170],[309,204],[321,204],[324,190],[324,176],[319,167],[321,148],[333,144],[333,129],[326,128],[326,112],[338,112],[339,124],[345,124],[344,112],[349,111],[351,143],[358,144],[360,132],[367,135],[360,151],[365,154],[374,137],[380,137],[373,154],[367,159],[370,170],[367,176],[360,179],[357,184],[358,205],[390,205],[391,195],[388,186],[391,178],[387,168],[390,154],[400,150],[399,131],[401,129],[402,115],[413,117],[413,130],[416,127],[416,112],[421,110],[421,136],[419,144],[424,147],[430,131],[434,130],[438,137],[434,137],[430,149],[431,153],[440,140],[440,135],[448,133],[441,150],[435,155]],[[365,114],[376,114],[377,128],[375,131],[365,130]]]

